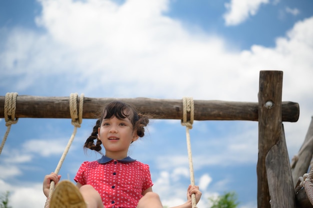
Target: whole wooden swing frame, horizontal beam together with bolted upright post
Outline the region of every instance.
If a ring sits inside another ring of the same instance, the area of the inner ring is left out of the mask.
[[[258,121],[257,208],[311,208],[303,190],[294,194],[282,122],[296,122],[299,105],[281,101],[282,76],[282,71],[260,71],[258,103],[194,100],[194,120]],[[112,100],[133,104],[158,119],[181,120],[183,116],[181,100],[84,97],[82,118],[94,119],[98,109]],[[0,96],[0,118],[3,109],[4,96]],[[68,97],[19,95],[15,117],[70,118]]]

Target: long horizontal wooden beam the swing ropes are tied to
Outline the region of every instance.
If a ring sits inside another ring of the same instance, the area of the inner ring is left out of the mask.
[[[0,96],[0,118],[4,117],[4,98]],[[79,99],[78,99],[79,100]],[[83,100],[83,118],[95,118],[105,103],[121,100],[135,105],[141,112],[150,113],[159,119],[182,119],[182,100],[151,98],[88,98]],[[194,120],[258,120],[258,103],[217,100],[194,100]],[[78,106],[78,101],[77,101]],[[69,97],[42,97],[18,95],[16,118],[70,118]],[[296,122],[299,105],[282,103],[282,120]]]

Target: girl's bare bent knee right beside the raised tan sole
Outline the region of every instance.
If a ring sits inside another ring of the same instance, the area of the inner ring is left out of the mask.
[[[103,208],[102,200],[97,191],[90,185],[83,185],[79,188],[79,192],[83,200],[87,204],[87,208]]]

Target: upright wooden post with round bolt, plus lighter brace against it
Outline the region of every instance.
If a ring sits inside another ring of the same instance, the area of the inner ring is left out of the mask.
[[[258,208],[295,208],[282,130],[281,94],[282,71],[260,71],[256,168]]]

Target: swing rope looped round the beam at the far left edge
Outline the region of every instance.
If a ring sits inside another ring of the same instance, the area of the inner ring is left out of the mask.
[[[18,118],[15,118],[16,97],[17,97],[17,92],[7,92],[5,94],[4,120],[5,120],[6,131],[1,142],[0,155],[4,147],[5,141],[7,139],[8,133],[10,132],[11,125],[16,124],[18,121]]]

